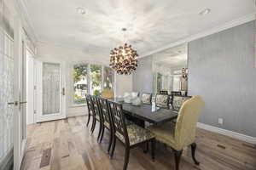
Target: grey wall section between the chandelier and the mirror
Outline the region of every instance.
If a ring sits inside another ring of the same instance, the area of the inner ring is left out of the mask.
[[[152,56],[138,60],[137,71],[133,73],[132,90],[135,92],[153,92]]]

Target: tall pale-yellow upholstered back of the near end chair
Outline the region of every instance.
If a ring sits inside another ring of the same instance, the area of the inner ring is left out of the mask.
[[[178,113],[175,127],[177,148],[182,149],[195,142],[195,130],[201,111],[205,106],[201,96],[195,96],[185,101]]]

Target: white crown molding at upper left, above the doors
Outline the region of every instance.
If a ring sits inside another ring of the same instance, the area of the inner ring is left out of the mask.
[[[25,29],[32,42],[36,44],[38,42],[38,36],[35,33],[35,29],[32,26],[32,21],[28,13],[26,2],[24,0],[15,0],[15,6],[18,14],[20,14],[20,20],[23,28]]]

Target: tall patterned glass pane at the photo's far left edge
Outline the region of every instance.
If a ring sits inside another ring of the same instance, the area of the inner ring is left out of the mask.
[[[14,42],[0,31],[0,169],[13,164]],[[8,104],[9,103],[9,104]]]

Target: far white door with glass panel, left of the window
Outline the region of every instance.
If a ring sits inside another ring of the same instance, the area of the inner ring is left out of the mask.
[[[63,64],[36,62],[37,122],[66,118]]]

